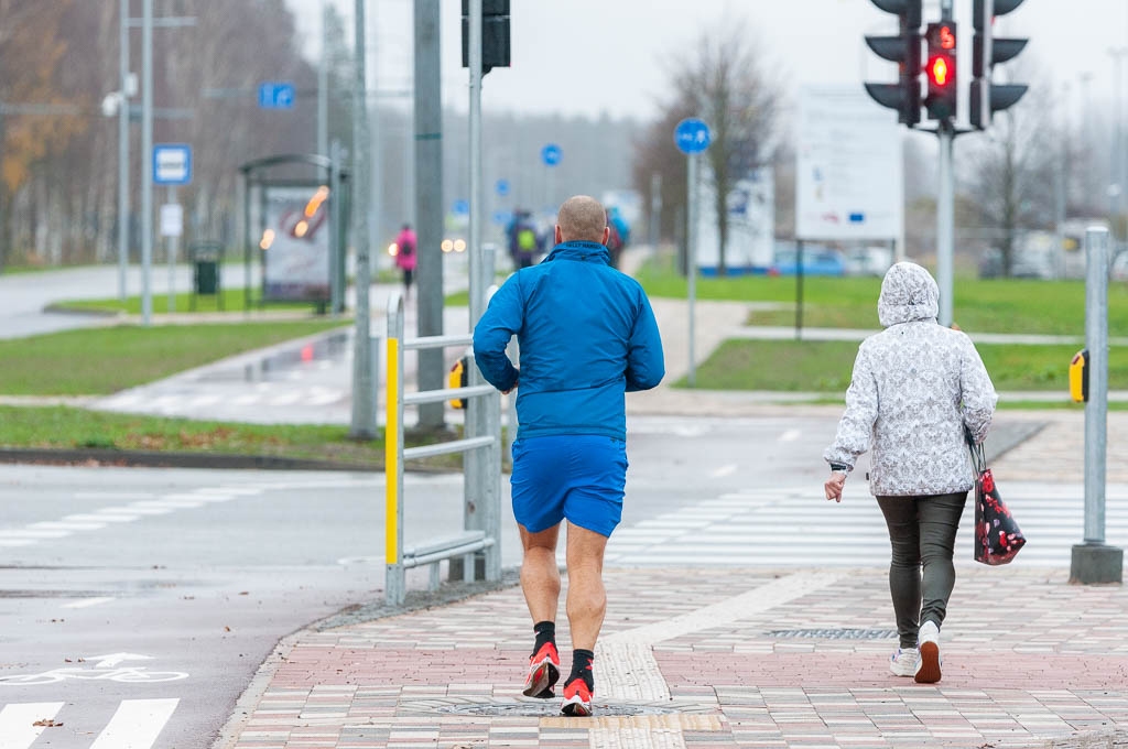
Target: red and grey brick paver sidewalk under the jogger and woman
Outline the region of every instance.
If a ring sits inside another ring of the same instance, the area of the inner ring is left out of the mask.
[[[923,686],[887,670],[883,570],[609,570],[594,719],[520,696],[531,627],[510,587],[299,633],[219,746],[1122,746],[1128,592],[1065,574],[960,566],[944,678]]]

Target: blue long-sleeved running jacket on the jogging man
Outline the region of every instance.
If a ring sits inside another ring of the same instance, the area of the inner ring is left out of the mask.
[[[474,328],[478,369],[499,390],[518,381],[505,355],[521,352],[518,439],[605,434],[626,439],[624,393],[662,381],[658,321],[638,282],[609,265],[602,245],[557,245],[539,265],[518,271],[490,300]]]

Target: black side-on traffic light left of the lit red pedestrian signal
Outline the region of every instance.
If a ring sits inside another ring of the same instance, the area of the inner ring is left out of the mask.
[[[879,58],[896,62],[900,74],[896,83],[866,83],[865,90],[883,107],[897,109],[897,122],[920,122],[920,6],[923,0],[871,0],[887,14],[900,18],[897,36],[866,36],[865,43]]]

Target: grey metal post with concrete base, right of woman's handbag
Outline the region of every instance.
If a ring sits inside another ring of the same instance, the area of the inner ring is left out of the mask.
[[[1109,230],[1085,232],[1085,538],[1073,547],[1069,581],[1123,581],[1123,549],[1104,544],[1105,461],[1109,411]]]

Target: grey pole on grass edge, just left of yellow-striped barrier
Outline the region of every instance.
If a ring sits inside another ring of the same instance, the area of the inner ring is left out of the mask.
[[[371,202],[367,79],[364,77],[364,0],[355,0],[353,52],[353,243],[356,246],[356,325],[353,336],[352,423],[349,437],[376,439],[376,384],[372,379],[372,340],[369,291],[372,270],[369,258],[368,212]]]

